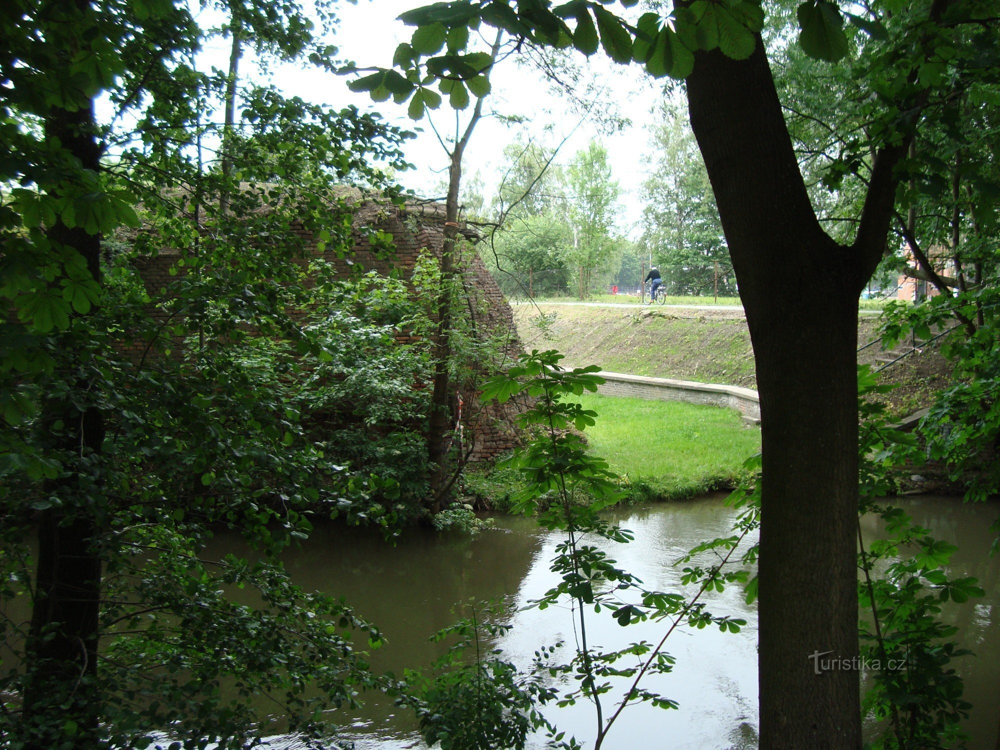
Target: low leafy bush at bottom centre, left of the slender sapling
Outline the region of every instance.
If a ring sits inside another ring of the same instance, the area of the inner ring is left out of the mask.
[[[405,695],[399,702],[416,711],[429,745],[440,743],[442,750],[520,750],[532,731],[545,729],[556,737],[555,728],[538,710],[556,696],[542,670],[556,647],[539,649],[534,668],[522,673],[491,645],[510,630],[496,621],[501,614],[493,604],[472,607],[468,616],[431,638],[457,640],[430,675],[406,671]]]

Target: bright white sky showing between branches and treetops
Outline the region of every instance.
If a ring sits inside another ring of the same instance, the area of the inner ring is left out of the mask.
[[[358,67],[389,67],[396,46],[408,42],[413,33],[396,20],[396,17],[414,7],[429,4],[430,0],[360,0],[357,4],[340,3],[337,34],[332,42],[339,48],[340,57],[354,62]],[[203,26],[215,25],[220,19],[211,18],[211,11],[203,11],[199,22]],[[216,39],[206,45],[202,59],[206,65],[225,69],[228,65],[229,45],[226,39]],[[252,56],[252,52],[249,53]],[[639,66],[621,66],[608,61],[602,54],[594,55],[588,62],[582,55],[574,59],[583,64],[585,76],[592,77],[595,85],[605,92],[594,108],[595,112],[617,109],[620,117],[631,124],[619,132],[602,132],[593,117],[581,122],[568,99],[554,93],[541,74],[534,68],[507,58],[497,65],[492,74],[492,92],[486,99],[484,112],[489,116],[480,121],[466,151],[464,171],[467,176],[476,172],[486,188],[500,181],[503,147],[522,138],[537,139],[550,147],[569,136],[557,158],[566,163],[572,155],[584,148],[591,138],[598,137],[608,149],[614,177],[621,188],[619,232],[637,238],[642,215],[641,184],[649,162],[648,127],[653,121],[653,109],[663,97],[662,85],[654,82]],[[257,61],[245,58],[241,74],[256,66]],[[439,186],[446,178],[447,157],[426,118],[414,122],[406,115],[406,105],[392,100],[373,103],[367,93],[354,93],[347,88],[350,77],[335,76],[320,71],[308,63],[280,64],[258,75],[266,74],[284,93],[302,97],[317,104],[341,108],[349,104],[362,111],[378,111],[389,122],[408,130],[416,130],[417,137],[407,142],[407,160],[414,170],[398,175],[400,182],[417,193],[434,197],[440,195]],[[469,108],[471,111],[471,106]],[[520,115],[521,125],[507,125],[493,116],[493,112]],[[454,110],[447,106],[432,113],[435,125],[454,132]],[[463,116],[463,122],[465,117]]]

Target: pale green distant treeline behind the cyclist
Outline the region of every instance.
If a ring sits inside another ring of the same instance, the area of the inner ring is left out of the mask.
[[[612,286],[634,291],[650,264],[671,294],[736,293],[708,174],[683,114],[664,103],[649,137],[639,227],[621,219],[622,190],[599,141],[568,160],[534,141],[504,149],[492,203],[476,194],[481,184],[465,200],[489,227],[481,252],[505,293],[584,299]]]

